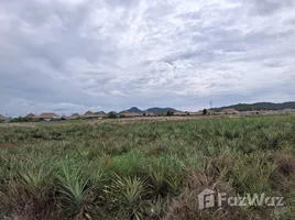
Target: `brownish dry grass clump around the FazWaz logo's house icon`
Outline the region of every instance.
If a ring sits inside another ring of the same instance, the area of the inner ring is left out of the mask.
[[[164,220],[239,220],[249,219],[249,215],[240,207],[225,206],[222,208],[210,208],[200,210],[198,207],[198,194],[204,189],[226,193],[234,196],[234,189],[231,183],[214,180],[201,173],[192,173],[188,176],[186,187],[182,190],[181,196],[174,198],[167,207]]]

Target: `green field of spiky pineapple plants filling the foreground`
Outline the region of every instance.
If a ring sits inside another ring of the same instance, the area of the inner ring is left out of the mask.
[[[205,188],[285,206],[199,210]],[[295,118],[0,128],[0,219],[295,219]]]

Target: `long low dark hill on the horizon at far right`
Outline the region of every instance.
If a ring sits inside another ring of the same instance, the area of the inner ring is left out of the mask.
[[[221,111],[223,109],[236,109],[237,111],[295,109],[295,101],[284,103],[272,103],[272,102],[238,103],[228,107],[212,108],[211,110]]]

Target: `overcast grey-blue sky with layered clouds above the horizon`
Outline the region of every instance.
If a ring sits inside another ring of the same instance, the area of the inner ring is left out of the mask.
[[[295,100],[294,0],[1,0],[0,113]]]

